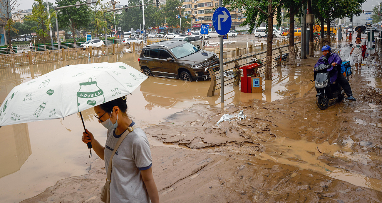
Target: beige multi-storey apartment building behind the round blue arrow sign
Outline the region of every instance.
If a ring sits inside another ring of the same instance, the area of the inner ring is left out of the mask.
[[[215,7],[219,6],[219,0],[184,0],[183,6],[185,6],[185,11],[183,15],[188,15],[193,17],[192,29],[200,30],[201,24],[209,24],[210,28],[214,30],[212,26],[212,15],[214,14]],[[239,25],[245,20],[241,9],[230,10],[232,26],[231,30],[239,28]]]

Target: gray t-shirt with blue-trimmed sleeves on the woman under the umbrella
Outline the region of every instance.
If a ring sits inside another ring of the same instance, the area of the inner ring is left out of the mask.
[[[114,129],[107,131],[104,150],[106,173],[119,137],[121,135],[116,135]],[[150,145],[146,133],[141,128],[135,128],[123,139],[113,157],[110,203],[150,203],[141,170],[149,169],[151,165]]]

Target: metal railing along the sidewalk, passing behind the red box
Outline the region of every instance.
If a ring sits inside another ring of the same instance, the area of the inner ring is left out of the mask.
[[[295,38],[295,41],[296,41],[296,38]],[[234,51],[237,51],[237,50],[234,50]],[[289,44],[285,43],[285,40],[283,41],[282,45],[277,43],[277,46],[272,48],[272,61],[271,61],[272,69],[274,69],[275,67],[280,66],[282,64],[282,56],[283,56],[283,54],[288,53],[288,52],[289,52]],[[295,52],[296,52],[296,58],[297,58],[299,56],[299,54],[301,54],[301,41],[295,42]],[[239,67],[244,66],[246,64],[249,64],[249,61],[252,58],[256,58],[259,60],[265,60],[266,54],[267,54],[266,49],[262,49],[262,50],[256,50],[254,52],[249,52],[249,53],[243,54],[241,56],[237,56],[236,58],[225,58],[225,56],[224,56],[224,58],[226,59],[225,62],[223,62],[224,72],[228,72],[228,71],[233,70],[235,68],[235,67],[229,68],[228,64],[235,63],[235,65],[239,66]],[[280,60],[275,60],[276,58],[279,58]],[[242,62],[242,64],[239,64],[239,61],[244,61],[244,62]],[[289,56],[287,56],[286,62],[287,61],[289,61]],[[208,73],[210,74],[210,78],[211,78],[211,83],[210,83],[210,87],[209,87],[207,96],[210,96],[210,97],[215,96],[215,91],[222,88],[222,85],[220,83],[217,83],[217,78],[220,78],[222,74],[221,74],[220,70],[218,70],[217,72],[214,72],[214,70],[213,70],[214,68],[219,67],[219,66],[220,66],[220,64],[217,64],[214,66],[210,66],[210,67],[206,68],[206,70],[205,70],[206,72],[208,71]],[[258,74],[261,77],[263,77],[264,73],[265,73],[265,66],[262,67],[262,69],[259,69],[258,71],[259,71]],[[223,74],[223,77],[227,78],[227,79],[224,79],[223,86],[227,86],[227,85],[230,85],[230,84],[236,82],[235,77],[229,77],[231,75],[233,75],[233,73],[232,74],[226,74],[226,75]],[[233,80],[233,81],[230,82],[230,80]],[[230,82],[230,83],[226,84],[226,82]],[[219,87],[217,87],[217,86],[219,86]]]

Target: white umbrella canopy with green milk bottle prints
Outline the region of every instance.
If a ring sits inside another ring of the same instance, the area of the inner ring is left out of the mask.
[[[146,78],[121,62],[62,67],[14,87],[0,107],[0,127],[64,118],[126,96]]]

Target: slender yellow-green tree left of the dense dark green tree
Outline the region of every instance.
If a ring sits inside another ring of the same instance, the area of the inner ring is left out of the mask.
[[[42,38],[42,42],[45,45],[45,37],[48,36],[47,31],[49,31],[49,25],[52,19],[56,18],[56,12],[50,10],[49,18],[46,11],[46,3],[43,0],[35,0],[34,3],[35,7],[32,8],[32,14],[25,16],[24,20],[37,22],[37,26],[32,27],[31,30],[37,33],[37,37]]]

